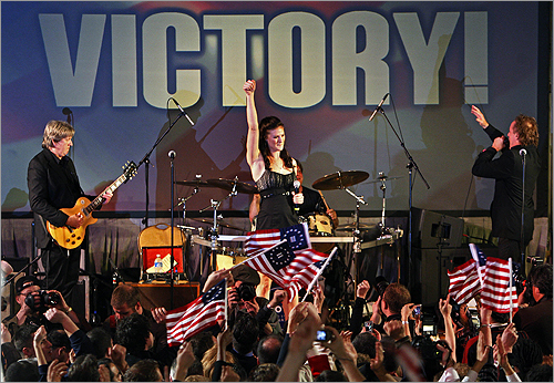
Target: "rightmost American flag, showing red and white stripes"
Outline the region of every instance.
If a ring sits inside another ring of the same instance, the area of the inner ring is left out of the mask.
[[[504,259],[489,257],[486,259],[483,287],[481,288],[481,304],[496,312],[517,311],[517,291],[510,262]],[[512,288],[510,289],[510,278]],[[510,310],[510,299],[512,310]]]

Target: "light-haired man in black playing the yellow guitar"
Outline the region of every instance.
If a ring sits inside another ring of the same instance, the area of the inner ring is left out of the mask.
[[[68,156],[74,134],[75,130],[69,123],[50,121],[44,128],[43,149],[31,159],[27,173],[37,247],[41,249],[47,273],[44,286],[45,289],[60,291],[66,299],[71,299],[71,290],[79,280],[81,247],[71,250],[62,248],[48,234],[45,225],[47,220],[58,227],[79,228],[83,224],[82,213],[68,216],[60,210],[72,208],[84,196],[75,165]],[[102,197],[107,204],[112,194],[105,193]]]

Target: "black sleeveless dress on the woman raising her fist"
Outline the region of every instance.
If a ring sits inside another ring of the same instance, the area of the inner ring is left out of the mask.
[[[293,195],[295,173],[280,174],[268,169],[256,182],[261,197],[256,230],[281,229],[298,224]]]

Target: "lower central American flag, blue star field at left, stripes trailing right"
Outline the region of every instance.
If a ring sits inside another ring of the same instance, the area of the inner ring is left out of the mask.
[[[295,244],[298,242],[295,240]],[[289,244],[290,240],[286,238],[274,247],[258,252],[257,257],[252,257],[245,263],[269,277],[284,288],[288,292],[289,300],[293,300],[298,290],[307,287],[319,271],[317,267],[312,267],[314,263],[327,259],[328,255],[310,248],[305,249],[302,246],[296,246],[300,250],[294,251]]]

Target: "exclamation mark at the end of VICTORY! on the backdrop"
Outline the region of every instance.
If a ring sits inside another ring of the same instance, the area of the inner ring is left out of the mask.
[[[486,12],[464,12],[465,103],[489,103],[489,33]]]

